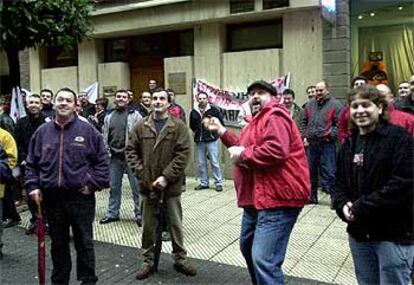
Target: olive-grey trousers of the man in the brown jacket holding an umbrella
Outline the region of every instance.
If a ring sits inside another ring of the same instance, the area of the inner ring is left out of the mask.
[[[183,211],[181,207],[181,195],[171,197],[165,201],[165,218],[168,225],[175,263],[182,264],[187,259],[187,251],[184,248],[183,237]],[[142,195],[142,249],[144,263],[154,265],[154,247],[156,240],[156,230],[158,226],[158,205]]]

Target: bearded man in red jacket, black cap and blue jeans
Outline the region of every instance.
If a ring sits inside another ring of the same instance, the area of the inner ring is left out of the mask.
[[[204,125],[220,135],[234,163],[238,206],[244,209],[240,248],[253,284],[284,284],[282,264],[290,233],[309,199],[305,149],[295,122],[275,98],[275,88],[253,82],[252,121],[240,137],[217,118]]]

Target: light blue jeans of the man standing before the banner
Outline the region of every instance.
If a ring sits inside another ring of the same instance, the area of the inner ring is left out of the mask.
[[[208,186],[208,169],[207,169],[207,152],[213,170],[214,184],[216,186],[223,184],[223,177],[220,170],[219,145],[218,140],[213,142],[196,143],[198,168],[202,186]]]

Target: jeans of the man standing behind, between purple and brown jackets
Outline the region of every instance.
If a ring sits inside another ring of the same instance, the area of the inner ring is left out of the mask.
[[[110,171],[110,193],[108,205],[108,217],[119,218],[119,208],[121,207],[122,178],[125,170],[128,174],[129,185],[131,186],[132,198],[134,199],[134,214],[137,221],[141,221],[141,208],[139,198],[139,185],[137,178],[128,166],[124,154],[112,154],[109,165]]]

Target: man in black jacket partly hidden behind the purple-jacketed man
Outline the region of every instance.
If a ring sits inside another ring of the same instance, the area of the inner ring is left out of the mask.
[[[32,94],[27,99],[27,116],[17,120],[15,128],[15,139],[18,149],[18,165],[20,165],[23,177],[30,139],[37,128],[44,122],[46,122],[46,117],[42,114],[42,99],[39,95]],[[26,230],[26,234],[33,234],[36,228],[37,207],[33,200],[29,197],[27,197],[27,205],[32,217],[30,218],[30,225]]]

